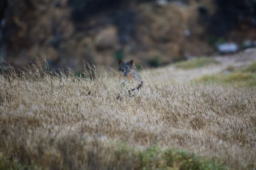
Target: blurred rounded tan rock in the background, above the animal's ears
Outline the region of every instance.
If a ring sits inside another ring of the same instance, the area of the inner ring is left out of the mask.
[[[117,45],[117,30],[114,26],[109,26],[96,35],[95,46],[98,49],[115,48]]]

